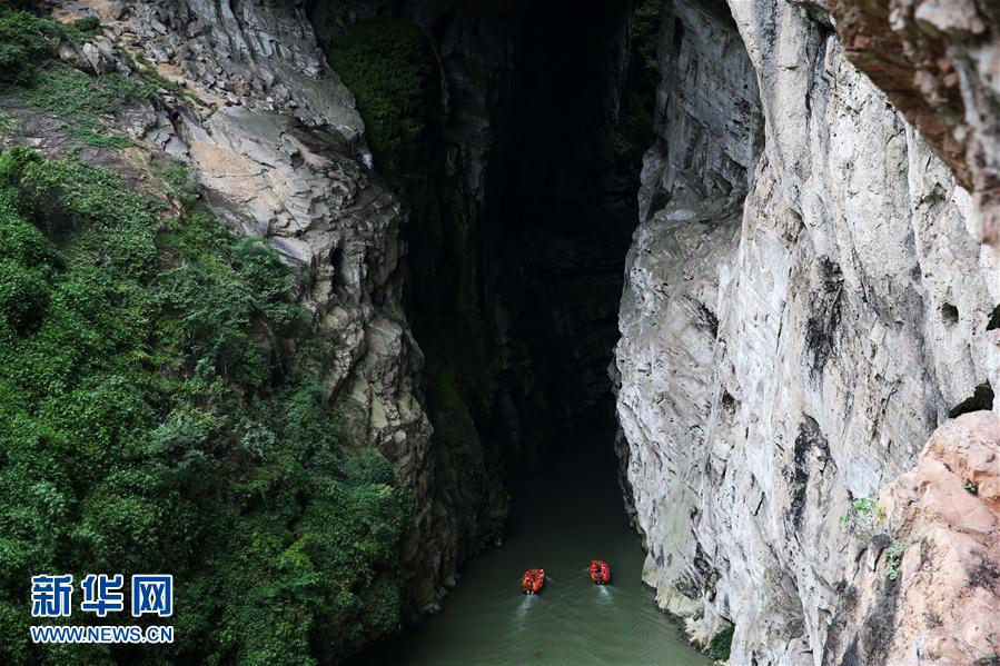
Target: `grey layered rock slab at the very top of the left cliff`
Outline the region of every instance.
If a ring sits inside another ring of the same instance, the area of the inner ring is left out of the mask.
[[[319,51],[300,3],[101,2],[117,41],[207,101],[285,111],[348,141],[363,131],[354,98]]]

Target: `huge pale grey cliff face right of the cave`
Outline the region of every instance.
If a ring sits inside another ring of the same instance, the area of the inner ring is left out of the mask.
[[[839,518],[998,385],[998,257],[818,3],[664,17],[616,349],[645,576],[696,639],[735,624],[733,663],[821,664],[849,584]],[[887,658],[871,648],[852,654]]]

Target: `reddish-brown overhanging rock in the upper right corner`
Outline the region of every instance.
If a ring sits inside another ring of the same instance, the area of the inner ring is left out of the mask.
[[[829,0],[848,58],[884,90],[976,193],[1000,245],[1000,6]]]

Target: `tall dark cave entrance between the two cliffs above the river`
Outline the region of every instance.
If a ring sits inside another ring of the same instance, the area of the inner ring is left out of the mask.
[[[572,454],[561,434],[614,441],[608,364],[654,138],[650,7],[640,20],[628,0],[471,3],[432,29],[448,108],[435,188],[409,229],[413,321],[432,423],[454,430],[467,416],[508,480]]]

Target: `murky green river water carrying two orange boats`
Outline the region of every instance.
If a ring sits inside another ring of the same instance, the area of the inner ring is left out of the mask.
[[[558,467],[517,489],[502,548],[462,570],[442,613],[364,655],[379,665],[706,665],[642,583],[644,554],[627,525],[613,435],[560,456]],[[583,451],[596,451],[586,453]],[[595,586],[591,559],[606,559],[612,585]],[[537,596],[521,576],[544,568]]]

